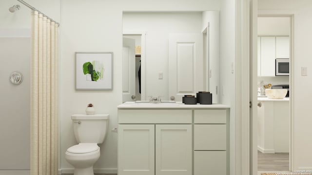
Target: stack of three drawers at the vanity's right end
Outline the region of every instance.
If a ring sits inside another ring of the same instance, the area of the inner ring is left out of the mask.
[[[194,110],[194,175],[227,175],[226,109]]]

